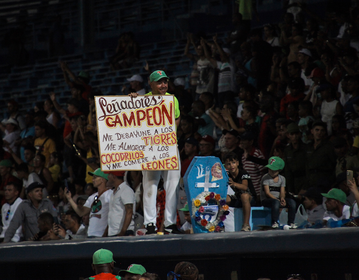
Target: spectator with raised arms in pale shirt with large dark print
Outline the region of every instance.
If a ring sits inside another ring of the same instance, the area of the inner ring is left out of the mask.
[[[193,55],[189,52],[190,44],[195,48],[196,54]],[[205,46],[205,48],[207,48]],[[214,70],[211,66],[211,62],[206,58],[205,50],[203,46],[196,46],[193,38],[193,34],[188,33],[187,35],[187,44],[185,47],[185,56],[189,59],[196,61],[197,71],[199,72],[199,77],[197,80],[196,87],[196,99],[199,98],[200,94],[203,92],[213,93],[213,80],[214,80]]]

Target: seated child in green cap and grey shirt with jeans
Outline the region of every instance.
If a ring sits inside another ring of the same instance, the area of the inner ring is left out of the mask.
[[[288,208],[288,225],[294,225],[295,201],[285,198],[285,178],[279,175],[284,168],[284,160],[271,157],[268,160],[268,173],[262,177],[261,202],[265,207],[272,209],[272,227],[278,228],[279,208]]]

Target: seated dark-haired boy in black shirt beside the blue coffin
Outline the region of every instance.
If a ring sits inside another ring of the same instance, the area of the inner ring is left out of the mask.
[[[251,176],[247,171],[239,169],[238,156],[235,153],[227,153],[223,156],[224,167],[229,171],[228,185],[234,191],[234,195],[227,195],[226,204],[229,207],[243,208],[243,225],[241,232],[251,230],[249,220],[251,206],[256,204],[256,191]]]

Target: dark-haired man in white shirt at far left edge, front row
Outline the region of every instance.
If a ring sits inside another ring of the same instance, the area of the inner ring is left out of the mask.
[[[9,182],[5,187],[5,199],[6,203],[1,208],[1,220],[3,222],[3,231],[0,234],[0,242],[4,241],[6,229],[8,229],[11,219],[14,216],[14,213],[22,202],[19,194],[21,191],[21,185],[16,182]],[[19,242],[22,237],[22,226],[16,230],[11,242]]]

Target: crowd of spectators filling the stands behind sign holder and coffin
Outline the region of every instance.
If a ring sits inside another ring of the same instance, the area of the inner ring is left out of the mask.
[[[195,156],[215,155],[230,174],[232,212],[232,207],[271,207],[272,225],[278,227],[279,209],[288,207],[293,226],[303,204],[309,223],[325,225],[359,216],[359,9],[321,18],[304,4],[286,8],[282,22],[253,29],[245,15],[234,13],[224,40],[188,33],[183,55],[193,61],[190,78],[168,81],[181,112],[181,177]],[[111,67],[125,69],[137,58],[137,43],[123,35]],[[94,96],[102,93],[89,85],[85,71],[76,75],[64,61],[59,67],[71,88],[66,107],[55,93],[27,112],[14,100],[7,103],[8,117],[0,124],[0,238],[140,234],[142,174],[98,169]],[[145,66],[149,74],[150,67]],[[130,88],[118,94],[150,91],[144,76],[128,81]],[[350,181],[347,170],[354,172]],[[181,180],[177,226],[191,233],[185,202]],[[160,182],[159,232],[164,205]],[[92,218],[101,223],[89,223]],[[233,231],[233,220],[225,227]],[[250,230],[247,222],[242,229]]]

